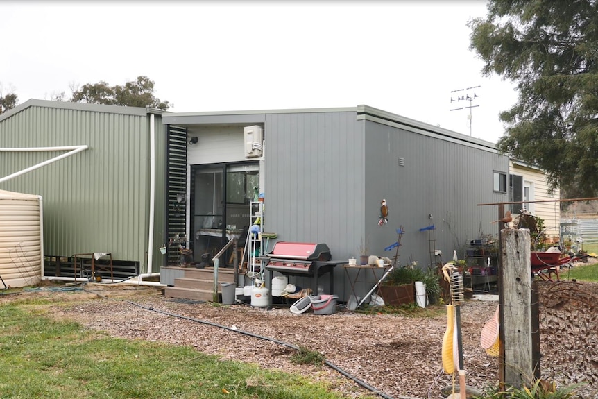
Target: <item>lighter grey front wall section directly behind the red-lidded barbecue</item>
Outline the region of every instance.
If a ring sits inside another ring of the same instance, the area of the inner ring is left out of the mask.
[[[266,116],[266,226],[278,241],[355,253],[364,229],[364,131],[354,112]],[[356,145],[357,144],[357,145]]]

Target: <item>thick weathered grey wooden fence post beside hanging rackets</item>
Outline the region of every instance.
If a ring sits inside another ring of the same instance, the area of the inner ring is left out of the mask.
[[[529,229],[501,231],[502,319],[500,336],[504,359],[501,363],[506,387],[522,388],[533,383],[533,323],[531,319],[531,238]]]

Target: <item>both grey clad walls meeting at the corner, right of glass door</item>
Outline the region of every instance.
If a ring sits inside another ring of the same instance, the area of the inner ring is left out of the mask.
[[[264,134],[266,220],[278,241],[324,242],[343,260],[358,256],[364,240],[370,254],[392,257],[384,248],[403,226],[400,263],[425,267],[430,248],[447,261],[454,249],[462,257],[468,240],[498,233],[490,223],[497,207],[477,206],[506,201],[493,192],[493,171],[508,173],[508,158],[490,148],[358,120],[356,112],[267,114]],[[382,198],[390,216],[378,226]],[[434,235],[419,231],[429,224]],[[335,294],[347,296],[343,270],[334,274]]]

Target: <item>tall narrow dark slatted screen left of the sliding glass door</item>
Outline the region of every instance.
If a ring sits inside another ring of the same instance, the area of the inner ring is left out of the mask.
[[[173,241],[168,251],[169,266],[180,264],[178,245],[187,248],[185,240],[185,198],[187,193],[187,129],[180,126],[168,126],[168,169],[166,195],[168,196],[168,215],[166,218],[166,237]]]

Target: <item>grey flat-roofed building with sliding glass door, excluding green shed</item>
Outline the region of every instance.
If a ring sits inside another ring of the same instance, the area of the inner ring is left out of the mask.
[[[200,230],[218,223],[222,245],[223,226],[249,223],[248,182],[259,182],[265,230],[278,241],[325,243],[334,259],[359,255],[367,241],[368,253],[391,257],[394,250],[384,248],[402,227],[400,263],[423,267],[495,232],[497,208],[477,204],[507,201],[509,159],[494,144],[366,105],[169,113],[162,120],[167,130],[187,134],[185,229],[196,260],[214,245]],[[256,127],[261,136],[252,147],[246,130]],[[237,182],[245,185],[241,198],[228,192]],[[383,198],[390,211],[380,226]],[[335,293],[343,296],[346,282],[336,269]]]

